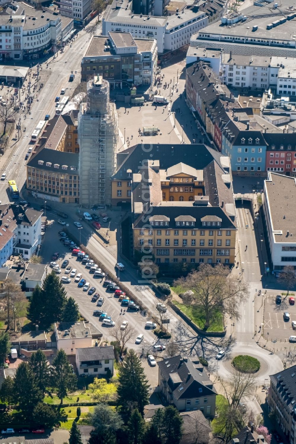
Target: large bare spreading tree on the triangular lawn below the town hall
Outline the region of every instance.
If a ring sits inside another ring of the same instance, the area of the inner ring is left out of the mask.
[[[180,277],[174,285],[193,291],[193,296],[186,298],[188,300],[184,299],[184,303],[203,310],[204,330],[209,328],[217,307],[221,307],[223,313],[238,319],[240,306],[249,294],[248,284],[243,280],[237,281],[229,274],[229,268],[222,264],[200,264],[197,271],[192,271],[185,278]]]

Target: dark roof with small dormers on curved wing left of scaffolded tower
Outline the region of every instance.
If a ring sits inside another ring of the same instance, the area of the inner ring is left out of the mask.
[[[43,160],[44,164],[39,165],[38,161]],[[46,162],[51,162],[51,166],[46,166]],[[58,163],[60,165],[59,168],[54,167],[54,163]],[[62,169],[62,165],[68,165],[67,170]],[[55,171],[56,173],[62,174],[78,174],[78,166],[79,166],[79,153],[66,153],[64,151],[55,151],[50,148],[44,148],[41,151],[38,151],[34,157],[32,157],[27,166],[31,166],[32,168],[40,168],[45,171]],[[74,166],[76,170],[71,170],[71,166]]]

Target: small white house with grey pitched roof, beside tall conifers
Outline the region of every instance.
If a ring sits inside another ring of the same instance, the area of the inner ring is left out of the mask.
[[[114,361],[113,345],[76,349],[76,366],[79,376],[83,374],[113,376]]]

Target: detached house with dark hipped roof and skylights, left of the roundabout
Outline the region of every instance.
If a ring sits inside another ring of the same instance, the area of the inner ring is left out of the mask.
[[[158,385],[169,404],[180,411],[200,410],[212,419],[216,389],[197,357],[174,356],[157,362]]]

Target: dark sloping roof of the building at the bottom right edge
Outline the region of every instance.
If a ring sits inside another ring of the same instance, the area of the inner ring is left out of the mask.
[[[296,365],[270,376],[290,412],[296,414]]]

